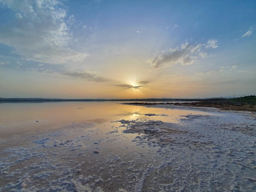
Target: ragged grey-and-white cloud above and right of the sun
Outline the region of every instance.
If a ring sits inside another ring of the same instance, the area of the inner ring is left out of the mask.
[[[217,40],[209,40],[207,44],[189,45],[189,42],[182,44],[180,48],[166,49],[162,51],[162,54],[157,54],[154,58],[149,58],[148,63],[153,66],[153,69],[159,69],[162,67],[168,67],[175,64],[190,65],[193,64],[197,57],[206,58],[207,53],[202,52],[201,48],[218,47]]]

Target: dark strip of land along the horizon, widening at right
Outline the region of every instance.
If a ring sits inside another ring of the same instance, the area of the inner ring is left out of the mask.
[[[173,99],[173,98],[134,98],[134,99],[53,99],[53,98],[0,98],[0,103],[44,103],[44,102],[104,102],[131,101],[131,105],[182,105],[193,107],[215,107],[225,110],[256,112],[256,96],[240,98]],[[193,102],[196,101],[196,102]],[[143,103],[141,103],[143,102]],[[162,103],[153,103],[162,102]],[[170,103],[169,103],[170,102]]]

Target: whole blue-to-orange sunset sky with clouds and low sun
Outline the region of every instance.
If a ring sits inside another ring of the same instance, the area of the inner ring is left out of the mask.
[[[0,0],[2,98],[248,95],[255,0]]]

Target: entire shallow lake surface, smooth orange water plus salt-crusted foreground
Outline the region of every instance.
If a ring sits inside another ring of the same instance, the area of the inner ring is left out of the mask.
[[[255,116],[156,107],[1,103],[0,191],[256,190]]]

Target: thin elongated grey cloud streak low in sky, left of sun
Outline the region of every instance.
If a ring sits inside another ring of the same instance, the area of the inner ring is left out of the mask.
[[[78,73],[78,72],[64,72],[63,75],[70,76],[70,77],[76,77],[85,79],[88,81],[94,81],[97,83],[104,83],[104,82],[110,82],[111,80],[96,76],[95,74],[90,74],[88,72]]]

